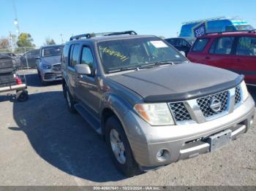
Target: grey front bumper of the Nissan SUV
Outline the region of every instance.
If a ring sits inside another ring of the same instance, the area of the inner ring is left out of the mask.
[[[135,160],[143,169],[151,169],[209,152],[210,144],[204,140],[222,130],[232,130],[231,138],[236,139],[251,127],[254,114],[255,102],[249,95],[234,112],[200,124],[151,126],[133,112],[122,123]],[[160,149],[170,153],[165,160],[157,158]]]

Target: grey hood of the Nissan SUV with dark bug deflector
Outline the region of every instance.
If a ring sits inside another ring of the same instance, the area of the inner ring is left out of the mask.
[[[184,101],[238,85],[244,76],[197,63],[180,63],[110,76],[145,102]]]

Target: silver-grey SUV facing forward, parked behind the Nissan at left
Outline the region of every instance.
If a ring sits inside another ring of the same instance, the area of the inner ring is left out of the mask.
[[[61,54],[64,45],[51,45],[41,47],[39,51],[39,62],[37,63],[37,74],[42,85],[48,82],[60,81],[61,78]]]

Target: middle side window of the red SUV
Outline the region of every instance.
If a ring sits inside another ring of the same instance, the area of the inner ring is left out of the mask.
[[[230,55],[233,47],[234,37],[222,37],[211,44],[210,53],[217,55]]]

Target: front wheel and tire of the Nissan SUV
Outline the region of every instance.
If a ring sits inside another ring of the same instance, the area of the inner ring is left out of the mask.
[[[128,177],[143,173],[132,155],[127,136],[116,116],[108,118],[105,130],[105,139],[116,168]]]

